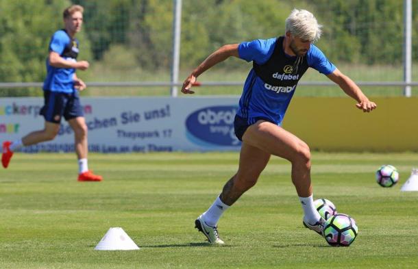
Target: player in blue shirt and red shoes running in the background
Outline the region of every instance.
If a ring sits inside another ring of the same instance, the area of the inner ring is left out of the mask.
[[[40,114],[45,118],[45,128],[34,131],[14,142],[3,142],[1,163],[8,168],[14,151],[21,146],[30,146],[39,142],[53,140],[60,130],[64,117],[74,131],[75,152],[78,157],[78,181],[101,181],[102,177],[88,170],[87,164],[87,126],[78,90],[84,90],[86,84],[75,74],[75,70],[86,70],[87,61],[77,62],[79,42],[75,38],[82,29],[84,8],[72,5],[63,12],[64,29],[56,31],[49,42],[47,58],[47,78],[43,84],[45,105]]]

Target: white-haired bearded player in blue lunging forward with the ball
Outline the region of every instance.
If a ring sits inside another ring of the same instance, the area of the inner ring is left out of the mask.
[[[284,36],[228,44],[214,51],[184,81],[182,92],[193,94],[191,86],[201,73],[215,64],[234,56],[253,62],[245,81],[243,94],[234,120],[235,134],[243,142],[238,172],[223,186],[221,195],[209,209],[195,220],[196,228],[210,243],[223,244],[217,223],[223,212],[254,186],[271,155],[288,159],[292,164],[291,177],[304,209],[305,227],[323,234],[325,220],[313,205],[310,180],[310,149],[282,123],[297,82],[311,67],[334,81],[356,106],[364,112],[376,108],[352,79],[343,75],[313,42],[321,36],[321,25],[312,13],[293,10],[286,18]]]

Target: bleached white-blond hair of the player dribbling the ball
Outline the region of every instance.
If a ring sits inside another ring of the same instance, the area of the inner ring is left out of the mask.
[[[318,24],[317,18],[308,10],[292,10],[286,18],[286,32],[290,31],[293,36],[315,42],[322,34],[322,25]]]

